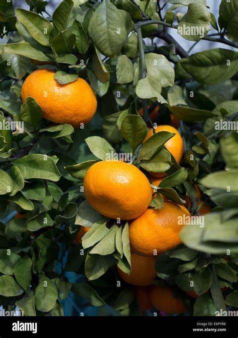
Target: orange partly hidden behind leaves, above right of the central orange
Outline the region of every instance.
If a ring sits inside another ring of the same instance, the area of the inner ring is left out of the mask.
[[[167,150],[174,156],[175,160],[179,163],[183,156],[183,139],[181,135],[179,134],[177,129],[169,125],[161,125],[155,129],[156,133],[161,131],[175,133],[175,135],[165,143],[165,146]],[[153,128],[151,128],[148,131],[144,142],[147,141],[151,136],[153,136]],[[152,172],[150,172],[150,174],[155,177],[164,177],[167,175],[166,173],[152,173]]]

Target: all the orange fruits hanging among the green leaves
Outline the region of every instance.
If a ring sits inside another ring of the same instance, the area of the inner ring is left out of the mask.
[[[43,117],[55,123],[68,123],[78,128],[87,123],[97,107],[95,94],[83,79],[60,85],[54,79],[55,73],[41,69],[33,72],[25,80],[21,96],[23,102],[33,97],[42,108]],[[53,104],[52,104],[53,103]],[[155,107],[150,113],[154,120],[159,113]],[[143,111],[139,111],[143,115]],[[154,132],[168,131],[174,136],[165,143],[166,148],[179,163],[183,155],[183,140],[175,127],[178,120],[171,116],[170,125],[151,128],[144,140],[147,141]],[[166,173],[149,172],[150,181],[159,185]],[[99,161],[93,164],[84,177],[84,193],[88,203],[102,215],[128,220],[132,249],[131,274],[117,269],[121,278],[136,286],[135,293],[142,310],[153,304],[157,309],[170,312],[185,312],[182,300],[174,297],[172,288],[151,286],[156,279],[155,261],[157,255],[170,250],[181,243],[179,232],[183,225],[178,218],[190,215],[188,209],[172,201],[164,201],[164,208],[148,208],[152,199],[152,188],[147,176],[138,167],[121,161]],[[201,203],[201,193],[197,186],[197,205]],[[155,197],[155,196],[154,196]],[[191,206],[189,197],[186,206]],[[81,227],[75,243],[81,243],[83,235],[89,230]]]

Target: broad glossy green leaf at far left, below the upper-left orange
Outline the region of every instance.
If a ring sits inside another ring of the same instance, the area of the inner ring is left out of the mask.
[[[43,178],[58,181],[61,174],[51,157],[41,154],[30,154],[13,162],[18,166],[24,179]]]

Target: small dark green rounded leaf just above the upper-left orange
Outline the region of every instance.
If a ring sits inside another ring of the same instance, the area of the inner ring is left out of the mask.
[[[52,47],[56,53],[72,53],[75,43],[75,35],[69,30],[59,32],[59,34],[52,40]]]

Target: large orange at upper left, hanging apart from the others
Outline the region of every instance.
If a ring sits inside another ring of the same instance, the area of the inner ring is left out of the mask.
[[[38,69],[30,74],[23,83],[21,96],[23,102],[33,97],[41,106],[43,117],[55,123],[68,123],[78,128],[93,117],[96,96],[89,84],[78,78],[66,85],[54,80],[55,72]]]

